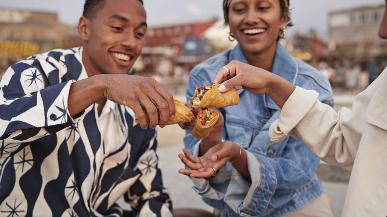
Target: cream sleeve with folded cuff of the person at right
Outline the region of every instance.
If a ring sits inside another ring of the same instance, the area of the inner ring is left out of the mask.
[[[296,87],[280,118],[270,126],[269,136],[274,142],[288,134],[299,138],[324,162],[351,170],[357,146],[348,144],[359,143],[364,114],[354,116],[347,108],[336,112],[318,101],[317,95],[315,91]],[[367,104],[367,100],[360,104]]]

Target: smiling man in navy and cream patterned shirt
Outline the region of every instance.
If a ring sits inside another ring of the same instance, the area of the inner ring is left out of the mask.
[[[82,47],[7,69],[0,80],[0,217],[172,216],[154,128],[173,119],[173,97],[154,79],[128,75],[146,29],[141,0],[86,0]],[[123,195],[132,211],[116,204]]]

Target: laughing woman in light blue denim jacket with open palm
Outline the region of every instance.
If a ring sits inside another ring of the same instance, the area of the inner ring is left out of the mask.
[[[196,86],[211,85],[222,66],[239,60],[272,71],[294,85],[315,90],[321,102],[333,107],[327,78],[293,58],[278,42],[285,34],[285,26],[290,24],[288,3],[224,0],[230,38],[239,44],[194,67],[187,99],[192,99]],[[274,145],[268,130],[281,110],[265,95],[243,89],[238,93],[239,105],[219,109],[220,118],[208,137],[199,140],[187,131],[184,142],[188,151],[184,150],[185,155],[180,154],[179,158],[190,169],[179,172],[192,177],[196,192],[222,217],[332,216],[329,199],[315,174],[320,160],[305,143],[290,136]],[[190,129],[192,124],[180,126]],[[239,156],[210,162],[209,156],[222,146],[234,149],[230,153]]]

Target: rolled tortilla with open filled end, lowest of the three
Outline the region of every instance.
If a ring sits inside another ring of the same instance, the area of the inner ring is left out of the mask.
[[[196,117],[196,123],[191,129],[191,134],[198,139],[207,137],[218,118],[219,114],[215,110],[201,110]]]

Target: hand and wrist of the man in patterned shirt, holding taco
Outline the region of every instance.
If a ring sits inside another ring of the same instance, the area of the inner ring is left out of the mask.
[[[164,127],[168,120],[175,117],[175,102],[171,93],[153,78],[127,74],[95,75],[72,83],[68,111],[74,116],[93,103],[106,99],[132,109],[143,129],[148,124],[141,105],[149,114],[150,128],[155,128],[157,124]]]

